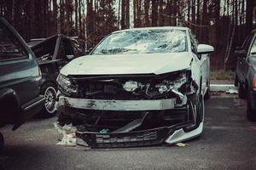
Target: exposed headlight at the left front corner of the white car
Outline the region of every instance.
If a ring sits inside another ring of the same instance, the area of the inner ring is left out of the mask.
[[[57,82],[62,93],[67,94],[68,96],[78,93],[78,86],[68,77],[60,74],[57,77]]]

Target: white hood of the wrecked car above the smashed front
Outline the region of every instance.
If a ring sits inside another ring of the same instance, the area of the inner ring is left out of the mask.
[[[87,55],[73,59],[61,69],[68,75],[163,74],[188,69],[193,56],[172,54]]]

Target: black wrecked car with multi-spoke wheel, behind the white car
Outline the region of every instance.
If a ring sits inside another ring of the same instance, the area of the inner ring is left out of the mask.
[[[61,34],[49,38],[33,39],[30,44],[42,71],[41,94],[44,95],[44,109],[40,116],[55,115],[56,78],[61,68],[69,61],[85,54],[84,48],[74,37]]]

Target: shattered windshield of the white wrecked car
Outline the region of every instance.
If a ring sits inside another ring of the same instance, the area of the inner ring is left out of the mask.
[[[152,54],[187,51],[186,32],[177,29],[121,31],[108,36],[92,54]]]

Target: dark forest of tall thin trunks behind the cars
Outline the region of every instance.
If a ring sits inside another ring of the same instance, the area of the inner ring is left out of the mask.
[[[93,48],[112,31],[187,26],[214,46],[212,68],[234,69],[233,51],[255,27],[253,0],[0,0],[0,15],[29,41],[56,33]]]

